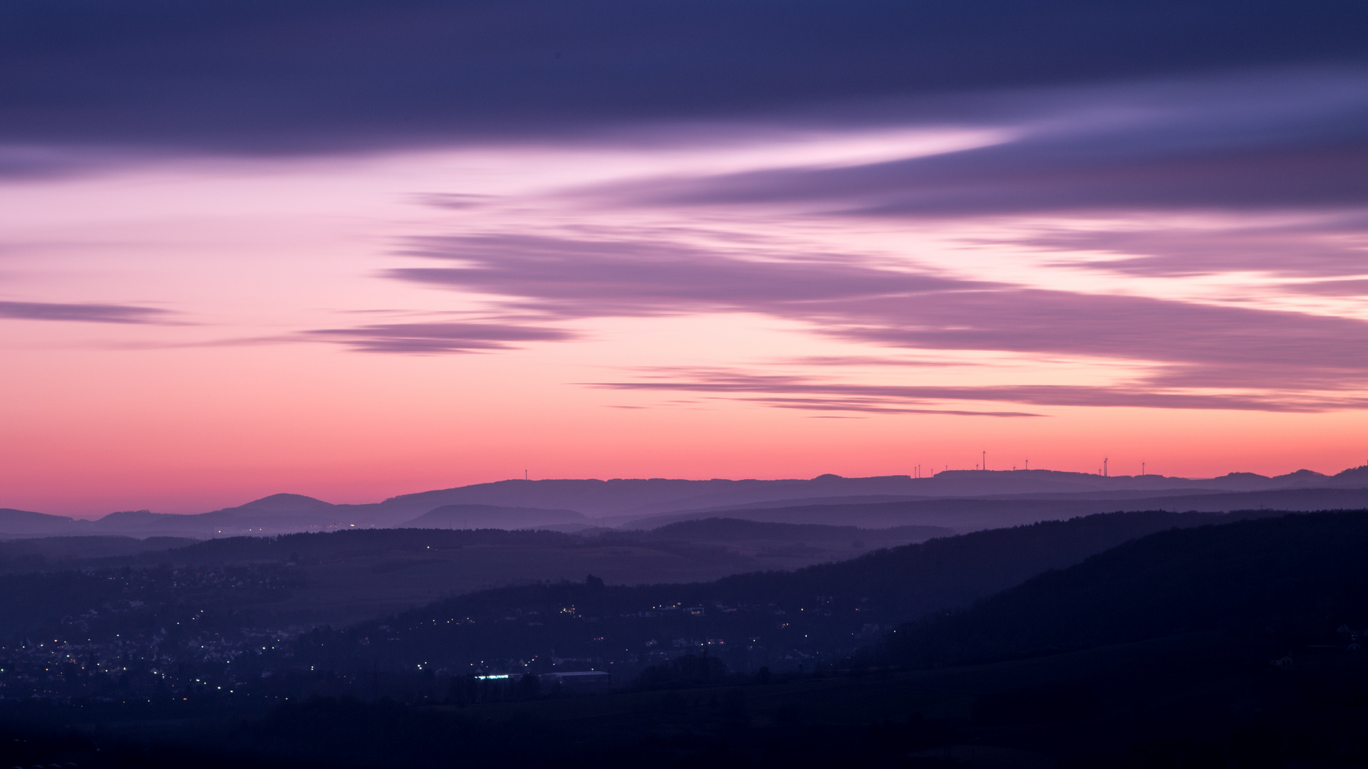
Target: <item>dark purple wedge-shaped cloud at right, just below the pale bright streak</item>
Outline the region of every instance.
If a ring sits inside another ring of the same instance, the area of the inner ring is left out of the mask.
[[[873,216],[1368,204],[1368,135],[1332,145],[1109,152],[1063,141],[1021,142],[850,168],[785,168],[700,179],[655,179],[595,190],[622,205],[821,207]]]

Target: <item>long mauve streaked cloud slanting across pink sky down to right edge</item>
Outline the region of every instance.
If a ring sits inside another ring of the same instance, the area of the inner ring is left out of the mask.
[[[1352,317],[1021,289],[830,255],[762,261],[661,242],[490,235],[427,238],[409,253],[461,265],[391,276],[505,297],[549,319],[744,311],[888,348],[1096,357],[1152,371],[1123,389],[918,389],[897,398],[1308,410],[1358,404],[1317,391],[1356,390],[1368,375],[1368,323]],[[1181,391],[1194,387],[1250,394]]]

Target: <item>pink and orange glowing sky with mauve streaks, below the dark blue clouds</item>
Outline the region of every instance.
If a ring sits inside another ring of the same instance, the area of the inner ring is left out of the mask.
[[[1361,209],[937,212],[881,186],[1055,130],[676,126],[0,178],[0,506],[981,450],[1114,475],[1364,464]]]

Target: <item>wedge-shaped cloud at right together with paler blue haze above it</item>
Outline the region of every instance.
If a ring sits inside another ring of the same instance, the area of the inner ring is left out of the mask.
[[[1363,81],[1361,71],[1306,71],[962,94],[941,108],[1018,138],[863,166],[636,179],[583,194],[633,207],[784,204],[937,218],[1360,207],[1368,204]]]

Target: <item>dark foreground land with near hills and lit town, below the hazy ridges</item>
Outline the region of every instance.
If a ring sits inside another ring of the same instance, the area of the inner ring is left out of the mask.
[[[22,766],[1365,766],[1364,553],[1368,512],[1118,513],[308,632],[222,602],[294,590],[279,562],[11,575],[127,603],[15,636],[0,738]]]

